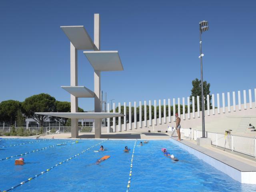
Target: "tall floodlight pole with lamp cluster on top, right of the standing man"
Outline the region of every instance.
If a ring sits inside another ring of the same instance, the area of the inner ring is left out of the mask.
[[[203,56],[204,54],[202,54],[202,39],[201,39],[201,34],[202,32],[208,31],[209,30],[209,26],[208,26],[208,21],[201,21],[199,22],[199,38],[200,38],[200,64],[201,64],[201,105],[202,105],[202,138],[205,138],[205,124],[204,124],[204,88],[203,88]]]

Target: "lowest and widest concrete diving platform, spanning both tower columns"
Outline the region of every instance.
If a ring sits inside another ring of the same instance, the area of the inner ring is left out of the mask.
[[[62,113],[62,112],[45,112],[45,113],[35,113],[38,115],[47,115],[54,117],[62,117],[62,118],[70,118],[70,119],[103,119],[103,118],[111,118],[111,117],[122,117],[124,114],[120,113],[104,113],[104,112],[95,112],[95,113]]]

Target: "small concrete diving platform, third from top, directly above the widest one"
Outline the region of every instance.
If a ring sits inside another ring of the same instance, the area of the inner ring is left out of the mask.
[[[61,88],[78,98],[93,98],[95,95],[85,86],[61,86]]]

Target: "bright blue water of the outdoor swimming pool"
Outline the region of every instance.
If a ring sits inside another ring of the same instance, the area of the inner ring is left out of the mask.
[[[126,192],[135,140],[83,139],[79,143],[62,139],[34,141],[0,141],[0,159],[4,159],[0,160],[0,190],[8,190],[44,172],[10,191]],[[150,140],[144,146],[137,146],[140,141],[136,141],[134,148],[130,192],[256,191],[255,185],[240,184],[168,140]],[[10,147],[21,143],[26,144]],[[66,145],[57,146],[61,143]],[[95,146],[96,144],[98,145]],[[94,152],[100,145],[108,150]],[[1,148],[2,146],[9,147]],[[124,146],[131,148],[131,151],[124,153]],[[180,161],[173,162],[163,156],[161,148],[164,147]],[[42,150],[36,151],[37,149]],[[14,166],[14,160],[20,156],[6,159],[27,152],[31,153],[22,155],[26,162],[24,166]],[[94,164],[97,159],[106,155],[110,158],[99,165]],[[46,171],[49,168],[52,169]]]

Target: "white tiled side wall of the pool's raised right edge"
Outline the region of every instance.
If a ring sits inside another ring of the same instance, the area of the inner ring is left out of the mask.
[[[234,180],[236,180],[240,183],[245,183],[245,184],[256,184],[256,171],[238,170],[237,168],[234,168],[234,167],[218,160],[217,158],[214,158],[214,157],[200,151],[199,150],[200,146],[193,148],[194,147],[193,145],[195,145],[195,144],[190,144],[190,146],[188,146],[187,144],[176,141],[174,138],[170,138],[170,141],[172,143],[178,145],[180,148],[188,151],[190,154],[193,154],[198,159],[203,160],[204,162],[213,166],[217,170],[220,170],[221,172],[227,174]]]

